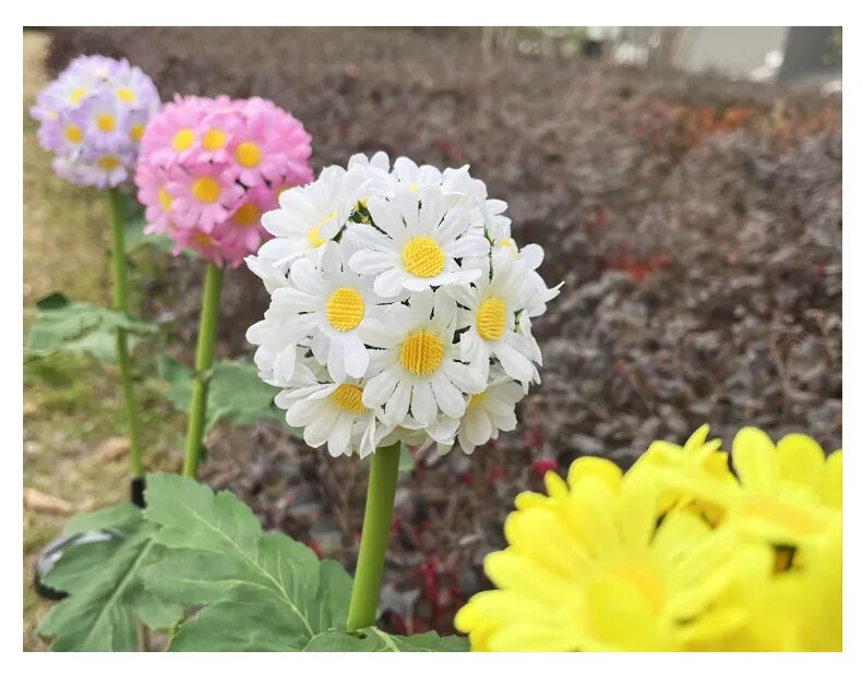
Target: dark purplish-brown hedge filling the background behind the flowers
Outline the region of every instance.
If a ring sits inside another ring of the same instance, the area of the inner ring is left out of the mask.
[[[49,63],[125,56],[163,97],[270,97],[314,137],[315,168],[359,150],[469,162],[520,242],[565,280],[536,323],[543,384],[520,426],[472,458],[404,474],[386,570],[388,627],[451,631],[503,544],[513,496],[579,455],[623,466],[704,421],[841,438],[841,101],[805,91],[579,60],[483,53],[476,32],[65,29]],[[189,351],[201,270],[152,280],[151,312]],[[265,294],[229,275],[219,350]],[[188,293],[185,290],[188,289]],[[179,290],[180,293],[171,292]],[[179,296],[179,297],[178,297]],[[277,424],[220,430],[204,478],[268,527],[355,563],[364,469]]]

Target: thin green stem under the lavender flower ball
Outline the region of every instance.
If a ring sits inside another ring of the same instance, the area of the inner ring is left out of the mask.
[[[111,274],[113,276],[113,309],[129,312],[129,275],[125,261],[125,242],[122,218],[120,218],[120,193],[117,188],[108,190],[108,217],[111,230]],[[132,388],[132,362],[125,330],[117,328],[117,361],[120,365],[120,384],[125,402],[125,420],[129,427],[129,463],[132,478],[144,474],[141,459],[141,443],[137,430],[137,413]]]

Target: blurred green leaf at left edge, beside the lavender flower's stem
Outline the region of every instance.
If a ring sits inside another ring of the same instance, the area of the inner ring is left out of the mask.
[[[27,334],[28,355],[56,352],[86,353],[103,363],[116,361],[117,329],[135,335],[155,333],[149,322],[132,318],[86,302],[71,302],[62,293],[51,293],[36,303],[36,317]],[[133,341],[130,339],[130,341]]]

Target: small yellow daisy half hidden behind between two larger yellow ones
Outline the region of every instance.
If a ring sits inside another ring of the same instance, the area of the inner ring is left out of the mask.
[[[632,480],[655,480],[657,475],[672,472],[680,475],[678,486],[670,484],[662,492],[659,501],[659,511],[665,514],[671,508],[687,508],[716,525],[723,513],[723,508],[686,490],[686,484],[692,474],[702,475],[704,479],[718,484],[734,484],[735,479],[728,469],[728,454],[722,451],[721,439],[707,441],[709,425],[704,424],[685,442],[679,446],[667,441],[655,441],[628,470]]]

